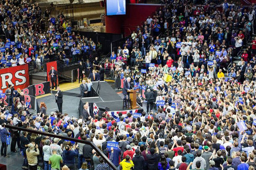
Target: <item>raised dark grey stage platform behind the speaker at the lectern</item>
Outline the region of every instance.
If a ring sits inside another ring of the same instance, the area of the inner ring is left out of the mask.
[[[98,86],[98,82],[92,82],[92,90],[93,93],[96,92]],[[85,102],[89,102],[89,106],[92,109],[93,103],[95,103],[99,108],[108,107],[109,111],[125,111],[129,109],[123,109],[123,99],[111,88],[111,86],[105,82],[100,82],[101,89],[99,90],[99,96],[89,97],[89,98],[81,98],[79,103],[79,116],[82,115],[83,105]],[[142,112],[143,109],[140,105],[138,108],[138,112]],[[93,110],[91,110],[93,111]]]

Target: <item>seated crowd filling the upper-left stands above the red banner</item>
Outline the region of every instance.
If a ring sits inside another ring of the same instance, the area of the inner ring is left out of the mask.
[[[55,18],[38,3],[4,1],[0,8],[0,68],[32,62],[41,69],[41,62],[55,60],[85,62],[96,48],[102,48],[91,38],[72,32],[62,13]]]

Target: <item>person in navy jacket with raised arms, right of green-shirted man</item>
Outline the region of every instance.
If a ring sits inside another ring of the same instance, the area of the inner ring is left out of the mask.
[[[70,170],[75,170],[75,156],[78,156],[76,145],[73,145],[73,147],[65,146],[63,151],[64,163]]]

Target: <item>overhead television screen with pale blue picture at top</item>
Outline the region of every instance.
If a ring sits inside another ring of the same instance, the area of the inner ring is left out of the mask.
[[[125,0],[107,0],[106,1],[107,15],[124,15]]]

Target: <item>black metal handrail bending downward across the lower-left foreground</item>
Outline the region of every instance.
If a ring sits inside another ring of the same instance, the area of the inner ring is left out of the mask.
[[[17,126],[5,125],[5,127],[9,128],[9,129],[15,129],[15,130],[19,130],[19,131],[36,133],[36,134],[39,134],[39,135],[56,137],[56,138],[59,138],[59,139],[65,139],[65,140],[69,140],[69,141],[73,141],[73,142],[77,142],[77,143],[84,143],[86,145],[90,145],[105,160],[105,162],[113,170],[118,170],[117,167],[108,159],[108,157],[93,142],[89,142],[89,141],[82,140],[82,139],[76,139],[76,138],[73,138],[73,137],[55,135],[54,133],[40,132],[40,131],[37,131],[37,130],[26,129],[26,128],[21,128],[21,127],[17,127]]]

